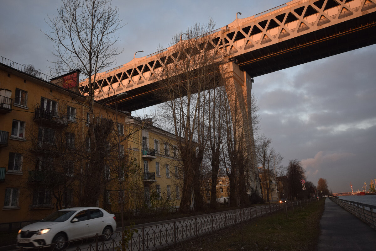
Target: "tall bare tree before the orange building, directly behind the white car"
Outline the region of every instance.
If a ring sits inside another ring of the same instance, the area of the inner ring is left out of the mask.
[[[114,47],[118,41],[117,32],[123,27],[118,9],[113,8],[111,0],[63,0],[57,14],[49,17],[47,23],[51,31],[44,32],[55,43],[55,68],[58,73],[77,71],[88,79],[88,95],[84,105],[89,110],[88,137],[90,142],[89,167],[86,168],[84,205],[95,205],[100,195],[98,178],[103,184],[103,143],[108,135],[102,126],[109,127],[104,121],[94,121],[94,83],[97,73],[113,64],[114,56],[121,51]],[[102,175],[102,176],[101,176]]]

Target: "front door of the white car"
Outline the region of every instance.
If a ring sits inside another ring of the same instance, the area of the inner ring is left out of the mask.
[[[77,219],[77,220],[76,220]],[[89,211],[82,210],[76,213],[70,221],[69,239],[80,239],[89,236]]]

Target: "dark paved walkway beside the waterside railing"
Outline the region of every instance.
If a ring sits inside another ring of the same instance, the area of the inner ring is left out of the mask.
[[[375,251],[376,230],[326,198],[317,251]]]

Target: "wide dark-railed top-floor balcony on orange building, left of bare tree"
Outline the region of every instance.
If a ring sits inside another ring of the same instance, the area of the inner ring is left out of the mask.
[[[67,114],[46,110],[41,107],[35,109],[34,121],[46,126],[68,126]]]

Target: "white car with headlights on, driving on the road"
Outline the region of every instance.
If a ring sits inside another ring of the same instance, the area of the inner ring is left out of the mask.
[[[115,215],[98,207],[65,208],[18,231],[18,247],[36,247],[56,243],[55,250],[65,248],[67,240],[105,234],[108,240],[116,230]],[[57,243],[61,242],[61,243]]]

